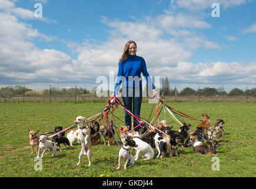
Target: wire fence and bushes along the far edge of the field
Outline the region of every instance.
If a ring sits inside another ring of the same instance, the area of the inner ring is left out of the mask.
[[[187,87],[189,88],[189,87]],[[185,88],[185,89],[187,89]],[[165,95],[164,90],[160,91],[160,96],[164,100],[171,100],[177,102],[256,102],[256,88],[247,89],[245,92],[237,90],[237,93],[229,95],[222,90],[217,93],[213,88],[206,87],[205,89],[197,90],[192,94],[186,94],[186,90],[183,89],[178,92],[177,88],[171,89],[168,95]],[[209,92],[211,90],[214,92]],[[18,90],[18,91],[17,91]],[[88,101],[106,101],[111,96],[112,92],[106,91],[105,97],[96,94],[96,89],[90,92],[85,88],[70,87],[68,89],[57,87],[50,87],[41,92],[33,91],[23,86],[13,87],[2,87],[0,90],[0,102],[88,102]],[[148,101],[151,97],[143,97],[143,101]]]

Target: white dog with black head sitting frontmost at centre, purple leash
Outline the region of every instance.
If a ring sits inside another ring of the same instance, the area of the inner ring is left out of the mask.
[[[129,167],[134,166],[134,164],[135,164],[134,157],[129,153],[129,148],[137,147],[137,146],[138,145],[136,144],[136,142],[134,140],[132,140],[129,137],[125,138],[124,148],[121,148],[118,153],[118,156],[119,156],[118,167],[116,168],[116,170],[119,170],[121,168],[121,159],[122,159],[122,161],[125,162],[124,170],[127,169],[128,164],[129,164]]]

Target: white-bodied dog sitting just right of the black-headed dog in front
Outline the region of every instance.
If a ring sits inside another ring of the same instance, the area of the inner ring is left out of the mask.
[[[134,149],[136,149],[136,155],[134,157],[135,161],[138,160],[140,153],[143,154],[143,158],[144,158],[143,160],[154,158],[154,150],[153,148],[151,148],[149,144],[147,144],[147,142],[144,142],[139,138],[134,138],[133,140],[137,145],[137,147],[134,147]]]

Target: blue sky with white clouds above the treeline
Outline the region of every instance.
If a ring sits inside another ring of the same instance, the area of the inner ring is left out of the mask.
[[[255,9],[255,0],[0,0],[0,87],[92,90],[102,77],[111,87],[134,40],[150,76],[171,88],[251,89]]]

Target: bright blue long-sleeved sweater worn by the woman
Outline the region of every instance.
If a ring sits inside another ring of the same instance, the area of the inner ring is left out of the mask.
[[[148,74],[144,58],[128,55],[127,60],[119,63],[114,94],[118,94],[121,83],[123,83],[123,87],[142,86],[141,73],[146,77],[148,86],[151,89],[155,89],[150,79],[150,74]]]

